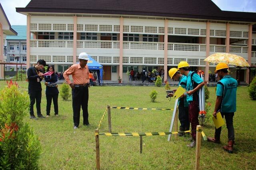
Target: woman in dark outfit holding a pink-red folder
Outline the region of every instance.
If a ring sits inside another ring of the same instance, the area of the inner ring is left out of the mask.
[[[53,74],[44,76],[44,81],[45,81],[44,84],[46,85],[45,94],[46,94],[46,101],[47,101],[46,117],[50,116],[52,100],[54,104],[54,114],[55,116],[58,116],[58,95],[59,95],[59,91],[57,88],[58,75],[54,73],[53,65],[49,65],[47,68],[47,71],[53,71]]]

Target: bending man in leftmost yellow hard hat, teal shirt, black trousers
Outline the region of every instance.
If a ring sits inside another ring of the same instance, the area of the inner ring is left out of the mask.
[[[179,85],[186,89],[187,77],[180,74],[179,69],[171,68],[169,70],[169,76],[171,79],[175,81],[179,81]],[[174,89],[176,91],[176,89]],[[168,93],[171,97],[174,95],[173,93]],[[180,132],[178,133],[179,136],[184,136],[185,130],[189,130],[190,122],[188,119],[188,103],[186,100],[186,94],[182,95],[178,100],[178,109],[179,109],[179,120],[180,120]]]

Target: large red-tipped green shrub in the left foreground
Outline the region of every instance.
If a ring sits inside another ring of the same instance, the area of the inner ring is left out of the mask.
[[[8,83],[0,92],[0,169],[38,169],[38,138],[23,119],[30,102],[26,91]]]

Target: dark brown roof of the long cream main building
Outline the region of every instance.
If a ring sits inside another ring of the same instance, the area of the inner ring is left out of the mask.
[[[16,11],[256,22],[256,13],[222,11],[211,0],[31,0],[26,8]]]

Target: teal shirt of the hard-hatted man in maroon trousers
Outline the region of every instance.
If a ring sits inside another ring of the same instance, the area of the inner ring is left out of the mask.
[[[192,74],[192,71],[189,71],[189,73],[187,75],[187,86],[186,86],[186,90],[187,91],[190,91],[190,90],[194,89],[192,81],[194,81],[197,84],[200,84],[200,83],[204,82],[197,73],[194,73],[192,75],[192,77],[191,77],[191,74]],[[191,81],[191,79],[192,79],[192,81]],[[198,93],[198,91],[196,93]],[[190,103],[190,101],[193,101],[193,95],[188,95],[187,94],[187,98],[186,99],[187,99],[187,103]]]

